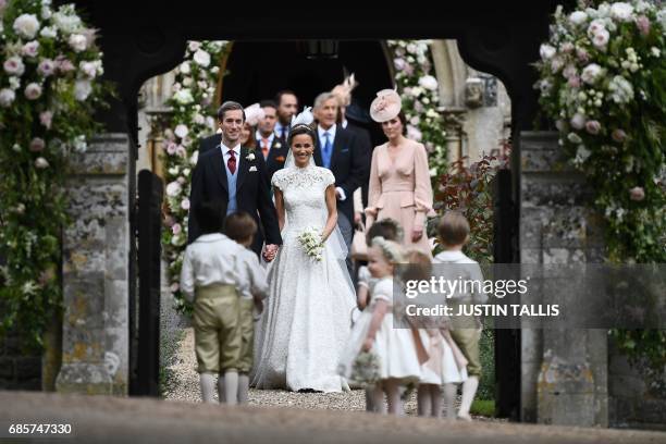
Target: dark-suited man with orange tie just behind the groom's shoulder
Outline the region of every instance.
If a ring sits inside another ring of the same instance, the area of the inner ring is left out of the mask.
[[[289,153],[289,147],[283,143],[275,133],[275,124],[278,123],[278,106],[272,100],[263,100],[261,103],[263,110],[263,119],[257,125],[258,151],[261,152],[268,171],[269,182],[275,174],[275,171],[284,166],[284,162]]]

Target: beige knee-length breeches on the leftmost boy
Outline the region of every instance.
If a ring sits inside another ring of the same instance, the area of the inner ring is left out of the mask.
[[[233,285],[196,289],[194,329],[199,373],[224,373],[238,369],[238,293]]]

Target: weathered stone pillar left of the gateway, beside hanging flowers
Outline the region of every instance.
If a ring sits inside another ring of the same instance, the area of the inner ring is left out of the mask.
[[[59,392],[127,394],[130,152],[126,134],[104,134],[72,164]]]

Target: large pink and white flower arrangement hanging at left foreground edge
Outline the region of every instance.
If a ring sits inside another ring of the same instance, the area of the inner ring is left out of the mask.
[[[61,304],[69,158],[100,132],[111,92],[95,40],[73,4],[0,0],[0,328],[37,347]]]

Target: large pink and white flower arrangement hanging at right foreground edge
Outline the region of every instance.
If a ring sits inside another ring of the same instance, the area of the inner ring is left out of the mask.
[[[556,10],[540,49],[540,102],[595,193],[610,262],[666,261],[665,38],[663,2],[580,2]],[[665,331],[610,333],[663,372]]]

